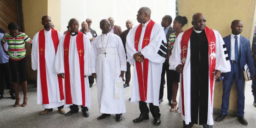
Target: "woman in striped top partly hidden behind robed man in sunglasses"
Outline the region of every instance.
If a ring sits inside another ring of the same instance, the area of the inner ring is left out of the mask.
[[[174,42],[176,40],[176,37],[183,32],[182,31],[182,27],[188,23],[188,20],[185,16],[177,16],[175,17],[174,21],[173,21],[173,29],[176,30],[176,32],[172,33],[169,36],[169,42],[168,42],[168,58],[170,58],[170,55],[172,53],[172,48],[174,45]],[[172,60],[169,60],[172,61]],[[179,82],[180,82],[180,74],[177,73],[174,70],[171,70],[171,76],[173,77],[173,82],[172,82],[172,107],[170,109],[171,112],[175,111],[178,112],[178,110],[176,109],[177,106],[177,100],[176,100],[176,96],[177,96],[177,92],[178,92],[178,87],[179,87]]]

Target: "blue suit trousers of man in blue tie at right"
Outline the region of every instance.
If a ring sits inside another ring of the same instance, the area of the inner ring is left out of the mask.
[[[240,77],[238,63],[230,63],[231,72],[228,73],[228,79],[223,80],[223,93],[221,103],[221,114],[228,114],[229,96],[233,80],[235,79],[237,91],[237,116],[244,116],[244,77]]]

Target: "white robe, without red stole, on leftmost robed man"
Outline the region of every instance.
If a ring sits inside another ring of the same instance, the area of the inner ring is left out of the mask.
[[[52,30],[44,30],[45,35],[45,70],[47,79],[47,91],[49,104],[43,104],[42,101],[42,87],[40,76],[40,63],[39,63],[39,51],[38,48],[38,36],[39,32],[33,37],[33,45],[31,51],[32,69],[37,70],[37,104],[42,104],[44,108],[56,108],[64,105],[64,100],[60,100],[60,90],[57,74],[53,72],[53,65],[55,60],[55,48],[52,41]],[[58,31],[58,38],[60,40],[62,34]],[[62,87],[63,88],[63,87]]]

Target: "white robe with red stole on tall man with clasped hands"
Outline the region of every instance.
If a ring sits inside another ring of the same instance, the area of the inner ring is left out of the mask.
[[[149,20],[132,28],[126,37],[127,62],[134,66],[131,102],[145,101],[159,105],[159,89],[166,57],[166,37],[160,24]],[[144,62],[135,62],[141,52]]]

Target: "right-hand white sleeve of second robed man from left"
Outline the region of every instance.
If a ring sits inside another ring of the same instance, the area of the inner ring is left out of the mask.
[[[84,34],[84,76],[91,76],[91,41],[89,37]]]

